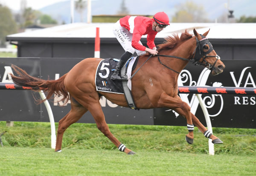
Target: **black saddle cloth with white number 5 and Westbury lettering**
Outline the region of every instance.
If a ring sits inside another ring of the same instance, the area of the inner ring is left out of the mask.
[[[135,68],[137,57],[130,58],[125,63],[125,68],[127,68],[127,77],[128,82],[127,86],[131,90],[131,71]],[[101,92],[112,92],[118,94],[124,94],[122,87],[122,81],[111,80],[111,75],[114,72],[119,59],[108,58],[100,61],[96,76],[95,76],[95,85],[96,90]],[[135,64],[134,64],[135,63]],[[133,67],[134,66],[134,67]]]

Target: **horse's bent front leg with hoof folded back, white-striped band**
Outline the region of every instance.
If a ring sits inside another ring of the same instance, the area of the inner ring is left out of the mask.
[[[193,144],[194,125],[192,123],[192,117],[191,117],[189,105],[186,102],[182,101],[178,95],[176,95],[175,97],[171,97],[166,93],[161,94],[160,99],[157,102],[157,105],[158,107],[168,107],[170,109],[180,108],[181,110],[183,110],[183,116],[186,118],[187,128],[189,130],[189,133],[186,135],[186,141],[189,144]]]

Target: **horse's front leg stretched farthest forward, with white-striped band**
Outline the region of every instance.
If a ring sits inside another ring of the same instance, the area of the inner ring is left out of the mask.
[[[180,108],[175,108],[173,110],[175,110],[176,113],[178,113],[178,114],[180,114],[182,116],[185,115],[184,111],[182,109],[180,109]],[[204,136],[206,138],[212,139],[212,143],[213,144],[221,144],[221,143],[223,143],[218,137],[216,137],[212,133],[210,133],[207,130],[207,128],[204,127],[204,125],[198,120],[198,118],[194,114],[191,113],[191,117],[192,117],[193,124],[195,124],[195,126],[198,127],[198,129],[204,134]]]

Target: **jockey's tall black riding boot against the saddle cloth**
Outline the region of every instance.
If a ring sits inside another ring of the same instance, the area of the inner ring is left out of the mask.
[[[133,53],[127,51],[121,56],[120,61],[117,63],[116,69],[111,76],[112,80],[127,81],[127,78],[121,76],[121,69],[122,66],[126,63],[126,61],[128,61],[128,59],[132,56],[132,54]]]

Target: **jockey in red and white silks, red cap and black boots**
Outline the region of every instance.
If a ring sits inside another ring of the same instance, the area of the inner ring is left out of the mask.
[[[127,80],[127,78],[121,76],[120,72],[122,66],[134,52],[137,55],[144,55],[145,52],[149,52],[151,55],[157,55],[157,48],[154,44],[155,36],[157,32],[162,31],[168,25],[169,17],[165,12],[158,12],[153,18],[129,15],[120,18],[114,25],[113,33],[123,49],[125,49],[125,53],[117,63],[111,79],[118,81]],[[148,35],[147,45],[149,48],[143,46],[140,42],[142,35]]]

